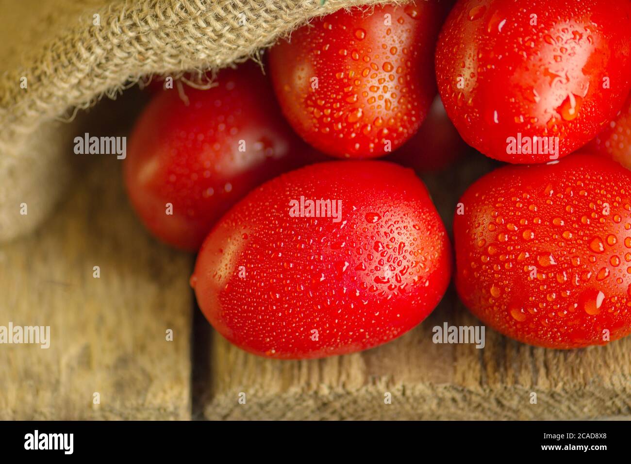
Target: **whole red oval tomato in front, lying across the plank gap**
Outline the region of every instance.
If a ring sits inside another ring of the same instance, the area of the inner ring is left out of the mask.
[[[313,217],[314,200],[336,209]],[[444,225],[410,169],[328,162],[240,201],[204,241],[191,285],[230,342],[303,359],[375,347],[410,330],[438,304],[450,274]]]

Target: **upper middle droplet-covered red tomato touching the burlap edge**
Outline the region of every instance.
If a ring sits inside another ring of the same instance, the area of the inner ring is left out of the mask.
[[[396,150],[436,93],[433,49],[443,15],[436,1],[340,9],[276,44],[274,90],[295,131],[335,157]]]

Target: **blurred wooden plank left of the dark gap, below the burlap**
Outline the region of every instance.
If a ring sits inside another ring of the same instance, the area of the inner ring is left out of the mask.
[[[50,326],[48,349],[0,345],[0,419],[188,419],[192,256],[144,231],[121,161],[91,156],[42,229],[0,246],[0,325]]]

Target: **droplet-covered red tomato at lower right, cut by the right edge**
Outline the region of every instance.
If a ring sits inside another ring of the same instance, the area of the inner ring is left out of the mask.
[[[461,203],[456,287],[478,318],[548,348],[631,332],[631,172],[578,153],[497,169]]]

